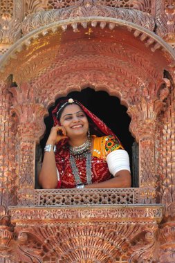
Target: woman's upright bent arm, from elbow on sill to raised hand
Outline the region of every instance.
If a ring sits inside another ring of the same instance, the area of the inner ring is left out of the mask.
[[[57,134],[57,131],[62,131],[62,135]],[[55,126],[51,129],[46,145],[55,145],[63,138],[67,138],[64,127]],[[44,189],[57,188],[57,167],[55,162],[55,153],[53,147],[50,152],[44,153],[42,169],[39,172],[39,185]]]

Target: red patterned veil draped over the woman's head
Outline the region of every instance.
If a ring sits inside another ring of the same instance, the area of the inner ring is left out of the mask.
[[[69,103],[68,101],[71,101],[71,102]],[[55,107],[55,109],[52,111],[54,126],[61,125],[59,120],[57,119],[57,111],[59,111],[60,107],[62,107],[62,105],[64,104],[66,104],[65,107],[67,105],[72,105],[72,104],[76,104],[80,106],[80,108],[85,112],[89,120],[89,128],[91,130],[91,134],[95,134],[97,136],[104,136],[104,135],[116,136],[113,133],[113,131],[111,131],[111,129],[109,129],[109,127],[107,127],[107,125],[105,125],[103,121],[100,120],[100,118],[95,116],[95,114],[93,114],[91,111],[89,111],[89,109],[84,107],[84,105],[82,105],[79,101],[73,100],[73,99],[61,100],[57,104],[57,107]],[[62,108],[64,109],[64,107]],[[67,142],[67,139],[64,139],[63,141],[64,142],[62,142],[61,145],[64,145]]]

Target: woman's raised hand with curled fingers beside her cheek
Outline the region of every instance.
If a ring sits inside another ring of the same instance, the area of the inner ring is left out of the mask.
[[[59,142],[59,140],[65,138],[68,138],[68,136],[66,136],[66,129],[63,126],[56,125],[51,129],[46,145],[48,144],[55,145],[56,143]]]

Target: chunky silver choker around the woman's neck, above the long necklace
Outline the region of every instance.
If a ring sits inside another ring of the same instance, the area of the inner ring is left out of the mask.
[[[85,143],[80,146],[69,146],[70,154],[75,156],[75,158],[84,158],[86,157],[86,153],[89,152],[91,147],[91,140],[88,138]]]

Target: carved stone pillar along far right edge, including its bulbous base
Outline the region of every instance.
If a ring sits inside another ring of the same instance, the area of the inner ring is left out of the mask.
[[[160,226],[160,263],[175,262],[175,89],[172,88],[163,114],[160,138],[160,198],[165,206],[165,224]]]

